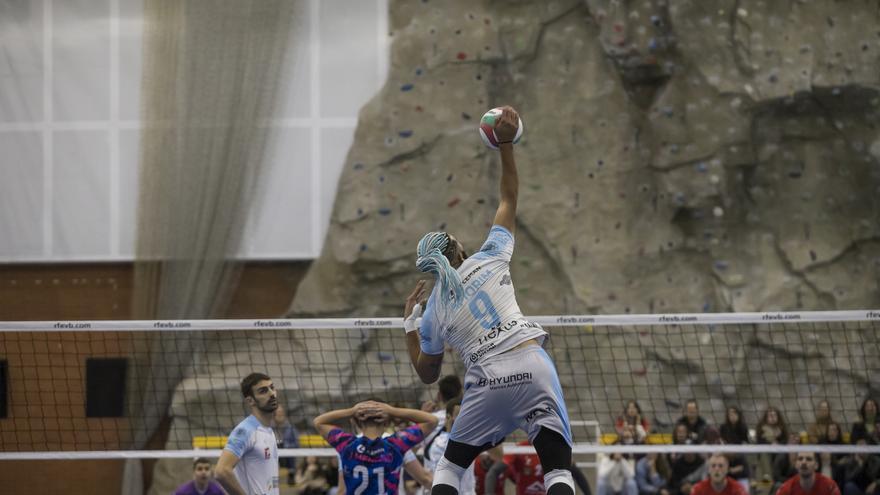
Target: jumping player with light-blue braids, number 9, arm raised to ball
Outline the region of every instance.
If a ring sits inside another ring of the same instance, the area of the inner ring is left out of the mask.
[[[571,427],[556,367],[542,347],[547,332],[523,318],[510,278],[519,191],[512,141],[518,121],[516,111],[504,107],[495,124],[501,195],[480,250],[468,257],[452,235],[430,232],[416,253],[416,266],[432,273],[435,283],[420,325],[424,281],[404,307],[413,366],[423,382],[433,383],[449,345],[467,368],[461,412],[434,472],[433,495],[456,495],[477,455],[517,428],[538,451],[547,494],[574,494]]]

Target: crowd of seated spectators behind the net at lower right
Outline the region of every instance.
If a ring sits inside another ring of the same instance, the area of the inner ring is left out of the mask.
[[[722,421],[713,423],[700,414],[697,401],[690,400],[668,433],[674,445],[880,445],[877,401],[865,399],[858,414],[847,432],[834,419],[831,404],[822,400],[806,430],[792,431],[783,412],[771,406],[751,429],[738,406],[729,406]],[[621,444],[645,443],[650,435],[660,433],[651,431],[651,423],[635,401],[625,405],[615,427]],[[716,459],[714,465],[709,457],[694,453],[601,456],[596,491],[598,495],[698,495],[694,488],[701,482],[704,488],[726,486],[712,483],[723,469],[725,477],[739,487],[730,493],[773,495],[791,479],[805,479],[803,472],[808,468],[804,466],[815,461],[816,471],[825,477],[821,479],[833,482],[842,495],[880,495],[880,455],[820,452],[811,461],[796,452],[726,454],[724,461]]]

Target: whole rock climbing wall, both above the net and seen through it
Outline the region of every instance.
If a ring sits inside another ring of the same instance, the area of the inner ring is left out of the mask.
[[[392,0],[390,18],[387,84],[289,316],[398,315],[424,232],[476,248],[500,167],[477,122],[501,104],[525,122],[524,313],[880,306],[877,2]],[[820,397],[849,423],[877,392],[877,324],[835,328],[551,329],[552,352],[572,416],[605,429],[627,399],[662,427],[692,396],[716,420],[770,404],[797,428]],[[276,344],[294,419],[366,391],[427,398],[401,336],[379,334]],[[230,351],[200,375],[233,373]],[[186,402],[176,428],[195,421]]]

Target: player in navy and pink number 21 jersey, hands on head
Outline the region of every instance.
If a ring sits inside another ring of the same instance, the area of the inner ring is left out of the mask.
[[[363,436],[355,436],[338,426],[352,418]],[[417,424],[383,438],[392,419]],[[394,495],[404,454],[434,430],[437,418],[425,411],[370,400],[324,413],[315,418],[314,424],[318,433],[339,452],[348,495]]]

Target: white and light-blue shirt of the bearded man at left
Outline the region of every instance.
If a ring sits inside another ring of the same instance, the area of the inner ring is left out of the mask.
[[[238,457],[235,477],[248,495],[278,495],[278,445],[272,428],[248,416],[232,430],[224,450]]]

